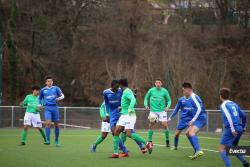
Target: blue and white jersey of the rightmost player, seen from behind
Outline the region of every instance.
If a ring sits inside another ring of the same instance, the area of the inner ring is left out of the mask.
[[[243,129],[246,128],[246,114],[241,111],[236,103],[226,100],[221,104],[220,110],[226,129],[231,129],[232,132],[235,132],[239,126],[242,126]]]

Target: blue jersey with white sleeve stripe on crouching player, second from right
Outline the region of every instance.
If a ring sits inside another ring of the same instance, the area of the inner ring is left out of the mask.
[[[169,119],[172,119],[181,110],[182,120],[195,122],[199,116],[206,114],[205,108],[198,95],[193,93],[189,98],[181,97]]]

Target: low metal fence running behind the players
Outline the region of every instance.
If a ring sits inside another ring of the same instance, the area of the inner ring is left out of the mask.
[[[221,113],[219,110],[206,110],[208,115],[207,125],[202,129],[206,132],[215,132],[223,129]],[[247,113],[247,121],[250,122],[250,111]],[[172,110],[168,113],[170,115]],[[0,106],[0,128],[18,128],[23,125],[25,109],[20,106]],[[147,129],[148,112],[145,109],[137,108],[137,129]],[[41,112],[44,120],[44,114]],[[169,127],[175,130],[179,115],[171,121]],[[98,107],[60,107],[60,123],[63,128],[100,128],[101,119]],[[158,125],[159,128],[160,125]],[[250,129],[247,129],[250,132]]]

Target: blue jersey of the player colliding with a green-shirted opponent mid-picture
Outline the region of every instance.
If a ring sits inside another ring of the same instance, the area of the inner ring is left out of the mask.
[[[111,89],[106,89],[103,91],[103,97],[106,111],[110,112],[110,118],[120,117],[118,108],[121,106],[122,89],[119,88],[117,92],[113,92]]]

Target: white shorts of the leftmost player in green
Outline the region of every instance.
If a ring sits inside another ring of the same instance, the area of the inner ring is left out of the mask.
[[[29,113],[26,112],[24,116],[24,125],[33,126],[35,128],[41,128],[42,127],[42,121],[40,117],[40,113]]]

